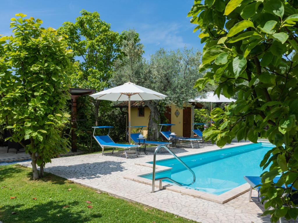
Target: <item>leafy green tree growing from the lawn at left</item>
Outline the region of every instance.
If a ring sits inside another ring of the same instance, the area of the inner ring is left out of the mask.
[[[76,66],[67,36],[42,28],[40,19],[16,16],[10,23],[14,35],[0,38],[0,120],[11,134],[6,140],[30,154],[37,179],[51,158],[69,151],[61,131],[69,115],[62,109],[69,99],[68,75]]]

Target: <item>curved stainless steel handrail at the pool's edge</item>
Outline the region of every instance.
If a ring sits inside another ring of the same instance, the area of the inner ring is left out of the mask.
[[[160,177],[160,178],[156,178],[155,179],[155,167],[156,167],[156,154],[158,152],[158,150],[160,148],[165,148],[169,153],[171,153],[184,167],[186,167],[186,169],[188,169],[192,174],[193,174],[193,182],[190,183],[190,184],[181,184],[179,182],[177,182],[176,180],[173,180],[171,178],[168,178],[168,177]],[[152,173],[152,191],[151,192],[154,192],[155,191],[155,181],[159,180],[159,189],[161,190],[162,189],[162,180],[169,180],[171,181],[172,183],[175,183],[179,186],[190,186],[192,185],[193,183],[195,183],[195,173],[193,172],[192,169],[190,169],[178,156],[175,155],[175,153],[173,153],[168,147],[164,146],[164,145],[160,145],[159,147],[157,147],[154,151],[154,156],[153,156],[153,173]]]

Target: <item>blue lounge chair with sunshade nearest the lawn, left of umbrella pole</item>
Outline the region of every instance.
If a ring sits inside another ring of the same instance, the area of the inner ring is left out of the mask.
[[[126,149],[135,149],[136,150],[136,148],[139,147],[138,145],[128,145],[128,144],[115,143],[113,141],[113,139],[111,139],[111,137],[109,136],[110,129],[114,128],[113,126],[94,126],[92,128],[94,128],[93,138],[96,140],[96,142],[100,145],[100,147],[103,150],[104,150],[105,147],[112,147],[113,148],[112,154],[114,153],[115,148],[123,148],[124,152],[125,152],[125,157],[127,158]],[[105,135],[105,136],[94,136],[95,129],[97,129],[97,128],[108,128],[109,129],[108,134]],[[103,155],[103,152],[102,152],[102,155]],[[137,152],[136,152],[136,156],[138,156]]]

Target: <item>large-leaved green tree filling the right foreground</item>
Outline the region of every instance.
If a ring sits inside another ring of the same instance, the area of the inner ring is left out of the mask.
[[[273,222],[298,213],[297,6],[290,0],[206,0],[195,1],[188,13],[205,44],[200,71],[207,73],[195,87],[211,84],[218,95],[238,95],[225,110],[212,110],[215,124],[204,137],[222,147],[235,137],[257,142],[260,134],[275,145],[260,163],[269,167],[261,194]]]

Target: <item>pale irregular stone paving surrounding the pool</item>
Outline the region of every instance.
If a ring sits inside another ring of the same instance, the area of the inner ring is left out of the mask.
[[[244,144],[246,143],[232,143],[224,148]],[[190,143],[179,144],[179,146],[180,148],[172,149],[177,156],[218,149],[217,146],[208,143],[200,144],[200,148],[194,147],[194,149],[191,148]],[[156,192],[150,193],[150,185],[125,179],[124,177],[127,175],[138,175],[142,172],[152,171],[151,167],[135,163],[152,161],[154,149],[155,147],[147,149],[148,155],[145,155],[143,152],[141,152],[139,157],[136,157],[135,154],[128,155],[128,159],[125,158],[123,151],[115,152],[114,154],[106,153],[103,156],[101,153],[97,153],[55,158],[52,159],[52,163],[46,164],[45,171],[96,190],[197,222],[270,222],[268,216],[260,216],[264,209],[263,205],[260,205],[256,198],[253,198],[252,202],[248,201],[248,192],[225,204],[218,204],[170,190],[159,191],[156,188]],[[172,156],[170,153],[157,154],[157,160],[165,158],[172,158]],[[21,165],[30,167],[30,162],[21,163]],[[156,185],[158,185],[158,182]],[[252,196],[257,196],[255,190],[253,190]]]

